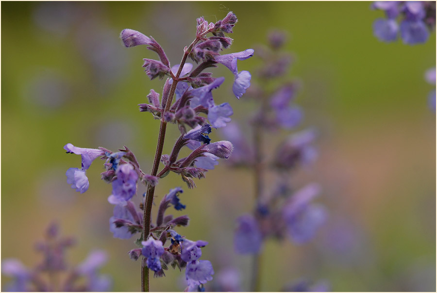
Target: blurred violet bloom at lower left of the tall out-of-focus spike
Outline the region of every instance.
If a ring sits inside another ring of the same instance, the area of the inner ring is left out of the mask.
[[[240,254],[256,254],[261,249],[262,234],[256,219],[250,215],[242,215],[237,219],[234,248]]]

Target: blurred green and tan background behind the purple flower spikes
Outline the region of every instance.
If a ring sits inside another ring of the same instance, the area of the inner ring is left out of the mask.
[[[311,243],[266,244],[262,290],[302,278],[325,280],[332,291],[436,290],[436,115],[427,105],[434,85],[424,79],[436,65],[435,32],[424,45],[382,43],[372,23],[383,12],[370,2],[2,2],[1,8],[2,259],[33,267],[40,259],[33,244],[55,220],[78,240],[70,263],[104,249],[110,258],[102,272],[113,276],[113,290],[139,290],[140,262],[127,255],[134,238],[115,239],[109,231],[111,186],[100,179],[102,165],[87,171],[89,190],[76,193],[65,172],[80,158],[63,146],[126,145],[150,172],[159,121],[137,104],[147,102],[151,88],[161,93],[164,81],[150,81],[141,68],[142,58],[155,54],[124,48],[119,33],[131,28],[153,36],[174,65],[195,37],[197,17],[215,22],[233,11],[239,21],[225,53],[265,43],[273,28],[288,33],[290,78],[303,84],[299,129],[320,133],[319,159],[293,180],[319,182],[319,201],[329,211]],[[238,68],[258,63],[255,51]],[[216,102],[229,102],[245,129],[241,118],[251,101],[234,97],[227,68],[213,71],[226,78]],[[177,135],[168,128],[164,153]],[[220,139],[218,132],[210,137]],[[251,260],[234,253],[232,237],[235,219],[252,210],[251,174],[221,161],[196,184],[188,190],[172,174],[155,196],[183,187],[187,208],[175,214],[191,222],[178,231],[208,241],[202,259],[212,262],[215,277],[235,268],[247,291]],[[151,291],[185,288],[184,274],[166,274],[151,280]]]

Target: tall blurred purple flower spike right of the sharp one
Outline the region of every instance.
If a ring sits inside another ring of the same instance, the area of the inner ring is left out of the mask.
[[[273,154],[271,158],[267,158],[268,152],[263,149],[270,132],[294,130],[303,119],[303,111],[294,103],[300,84],[285,78],[291,61],[291,56],[281,50],[285,38],[284,33],[274,31],[269,34],[269,48],[257,49],[262,59],[256,70],[259,83],[252,84],[248,91],[259,103],[250,121],[252,142],[245,139],[236,124],[222,130],[235,146],[230,163],[253,170],[254,210],[237,219],[234,245],[237,253],[255,258],[269,238],[288,236],[295,244],[308,242],[326,218],[325,208],[314,203],[320,194],[319,185],[310,183],[296,190],[290,182],[291,172],[316,159],[313,146],[316,131],[307,129],[286,136],[275,151],[269,151]],[[270,171],[276,174],[277,182],[266,179]],[[259,276],[253,276],[252,282],[259,282]],[[251,288],[254,290],[259,290],[255,284]]]

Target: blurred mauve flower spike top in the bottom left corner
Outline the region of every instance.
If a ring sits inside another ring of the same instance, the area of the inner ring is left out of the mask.
[[[17,259],[1,262],[3,275],[12,277],[7,292],[107,292],[112,279],[99,273],[107,261],[104,251],[94,250],[76,266],[66,260],[66,250],[75,244],[72,237],[60,237],[59,228],[51,224],[45,240],[37,242],[35,249],[43,254],[43,260],[29,269]]]

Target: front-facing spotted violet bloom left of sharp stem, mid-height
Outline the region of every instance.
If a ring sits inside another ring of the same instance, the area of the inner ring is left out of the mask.
[[[120,200],[129,200],[136,194],[138,174],[130,163],[119,165],[116,171],[117,179],[112,181],[112,194]]]

